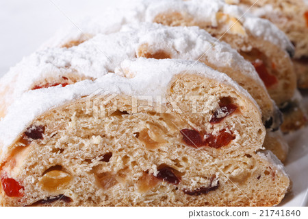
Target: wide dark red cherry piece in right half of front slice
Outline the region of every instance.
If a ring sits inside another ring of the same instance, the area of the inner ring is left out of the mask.
[[[221,148],[227,146],[235,136],[232,133],[227,132],[225,129],[219,132],[219,135],[206,134],[206,139],[201,137],[200,133],[196,130],[191,130],[188,128],[181,130],[181,135],[183,135],[183,141],[192,148],[200,148],[208,146],[211,148]]]

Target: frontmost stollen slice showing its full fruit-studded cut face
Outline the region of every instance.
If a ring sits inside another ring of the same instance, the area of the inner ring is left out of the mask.
[[[277,205],[290,180],[261,151],[265,134],[257,104],[228,76],[201,62],[125,60],[10,106],[1,205]]]

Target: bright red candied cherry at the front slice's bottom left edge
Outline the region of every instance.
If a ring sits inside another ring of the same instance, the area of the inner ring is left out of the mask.
[[[14,178],[10,178],[8,176],[1,177],[1,184],[3,187],[3,191],[9,197],[22,197],[23,189],[25,189],[18,181],[14,180]]]

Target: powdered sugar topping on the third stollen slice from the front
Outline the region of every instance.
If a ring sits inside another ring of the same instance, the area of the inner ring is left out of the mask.
[[[90,35],[99,32],[110,33],[120,29],[120,26],[126,23],[138,23],[142,21],[153,22],[158,14],[170,12],[182,12],[188,14],[196,22],[208,22],[209,25],[216,26],[216,13],[222,12],[239,19],[253,36],[270,41],[274,45],[278,45],[288,51],[293,51],[294,47],[287,36],[279,30],[274,24],[266,19],[260,19],[257,16],[249,14],[247,10],[242,10],[237,5],[228,5],[222,0],[133,0],[127,4],[121,5],[120,8],[114,10],[112,19],[108,15],[95,16],[94,18],[79,23],[81,30]],[[61,45],[64,41],[79,38],[83,36],[79,30],[62,31],[57,37],[52,38],[52,43],[45,46]]]

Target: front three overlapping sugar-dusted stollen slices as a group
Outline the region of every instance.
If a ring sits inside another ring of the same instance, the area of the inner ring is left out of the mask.
[[[1,78],[0,205],[278,205],[306,123],[287,36],[220,0],[110,14]]]

